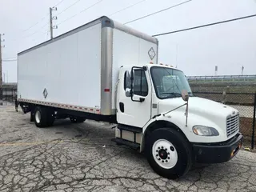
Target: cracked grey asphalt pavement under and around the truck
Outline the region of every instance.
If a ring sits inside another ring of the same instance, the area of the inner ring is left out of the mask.
[[[154,174],[142,154],[111,142],[112,126],[59,120],[39,129],[30,114],[0,106],[0,191],[256,191],[254,153],[194,166],[173,181]]]

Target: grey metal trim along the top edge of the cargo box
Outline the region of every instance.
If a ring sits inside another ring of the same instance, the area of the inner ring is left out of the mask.
[[[155,44],[158,44],[157,38],[151,37],[148,34],[143,34],[142,32],[140,32],[138,30],[134,30],[134,29],[130,28],[129,26],[124,26],[122,23],[115,22],[114,20],[112,20],[106,16],[102,16],[101,18],[95,19],[92,22],[88,22],[82,26],[78,26],[74,30],[70,30],[70,31],[66,32],[65,34],[61,34],[61,35],[57,36],[56,38],[50,39],[46,42],[42,42],[41,44],[38,44],[37,46],[33,46],[27,50],[23,50],[22,52],[18,53],[18,55],[25,54],[25,53],[29,52],[30,50],[36,50],[41,46],[46,46],[52,42],[58,41],[59,39],[66,38],[67,36],[70,36],[71,34],[77,33],[80,30],[85,30],[86,28],[89,28],[90,26],[97,25],[98,23],[102,23],[102,28],[103,27],[112,27],[117,30],[122,30],[122,31],[126,32],[127,34],[132,34],[138,38],[142,38],[148,42],[153,42]]]

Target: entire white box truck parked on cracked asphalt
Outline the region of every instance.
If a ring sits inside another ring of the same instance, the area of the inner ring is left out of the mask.
[[[158,40],[102,17],[18,54],[18,103],[38,127],[55,119],[115,123],[114,142],[145,152],[166,178],[242,146],[238,110],[194,97]]]

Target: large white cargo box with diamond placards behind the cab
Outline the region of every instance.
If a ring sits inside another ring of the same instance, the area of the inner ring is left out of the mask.
[[[18,54],[18,101],[113,115],[119,68],[157,59],[156,38],[98,18]]]

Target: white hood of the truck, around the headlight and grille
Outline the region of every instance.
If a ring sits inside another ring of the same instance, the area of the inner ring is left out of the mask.
[[[170,110],[174,110],[178,106],[184,104],[182,98],[168,98],[158,102],[158,114],[164,114]],[[238,110],[230,106],[223,105],[219,102],[214,102],[205,98],[190,97],[188,102],[188,120],[186,126],[186,106],[167,113],[165,117],[170,118],[176,126],[182,129],[189,129],[190,138],[198,141],[193,134],[192,127],[196,125],[210,126],[218,130],[220,137],[208,137],[210,142],[226,141],[226,121],[229,116],[238,114]],[[234,133],[236,134],[236,133]],[[230,135],[229,137],[234,136]],[[216,139],[216,140],[215,140]]]

